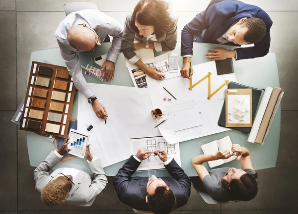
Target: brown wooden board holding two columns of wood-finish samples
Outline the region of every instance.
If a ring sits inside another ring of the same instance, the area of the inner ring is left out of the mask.
[[[67,137],[75,90],[66,67],[32,62],[20,130]]]

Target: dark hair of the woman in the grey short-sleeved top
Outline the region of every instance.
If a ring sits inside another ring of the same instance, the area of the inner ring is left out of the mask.
[[[250,201],[258,193],[258,174],[243,174],[240,179],[232,179],[230,183],[222,179],[223,191],[226,193],[221,201]]]

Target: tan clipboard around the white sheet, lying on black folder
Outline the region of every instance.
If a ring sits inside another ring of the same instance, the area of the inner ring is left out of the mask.
[[[227,93],[228,90],[236,90],[236,93]],[[250,95],[250,123],[249,124],[235,124],[227,123],[227,95]],[[225,89],[225,127],[252,127],[252,90],[249,89]]]

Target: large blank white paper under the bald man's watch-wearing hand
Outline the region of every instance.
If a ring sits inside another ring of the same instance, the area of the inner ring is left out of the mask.
[[[131,156],[130,139],[160,136],[150,111],[149,92],[134,87],[88,83],[98,101],[107,110],[107,125],[95,116],[82,93],[78,96],[77,130],[90,135],[91,155],[101,159],[103,167]],[[88,132],[86,124],[93,128]]]

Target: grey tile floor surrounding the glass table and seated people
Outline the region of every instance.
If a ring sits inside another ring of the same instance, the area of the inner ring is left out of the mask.
[[[25,132],[10,119],[25,94],[30,53],[33,50],[57,47],[54,32],[65,17],[63,4],[81,0],[0,0],[0,214],[133,214],[122,204],[109,182],[90,208],[42,204],[34,190]],[[88,0],[85,0],[88,1]],[[125,14],[138,0],[90,0],[100,9],[123,23]],[[189,202],[174,214],[296,214],[298,172],[296,144],[298,139],[298,18],[296,0],[244,0],[257,4],[273,20],[271,52],[278,61],[282,101],[281,139],[275,168],[258,170],[259,193],[250,202],[223,206],[206,205],[192,189]],[[203,10],[208,0],[171,0],[173,13],[179,17],[179,30],[195,14]],[[192,5],[191,7],[189,5]],[[180,38],[180,36],[178,37]],[[264,154],[265,155],[265,154]],[[113,177],[109,177],[109,180]]]

